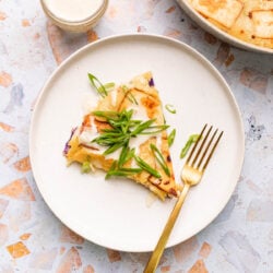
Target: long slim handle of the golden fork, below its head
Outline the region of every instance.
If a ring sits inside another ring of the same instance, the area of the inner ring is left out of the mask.
[[[183,201],[185,201],[185,199],[187,197],[187,193],[188,193],[189,189],[190,189],[190,186],[188,183],[185,183],[183,190],[180,193],[180,195],[179,195],[179,198],[178,198],[178,200],[176,202],[176,205],[173,209],[173,211],[171,211],[171,213],[170,213],[170,215],[168,217],[167,224],[165,225],[165,227],[163,229],[161,238],[159,238],[159,240],[158,240],[152,256],[150,257],[150,260],[149,260],[149,262],[146,264],[146,268],[143,271],[143,273],[153,273],[153,272],[155,272],[155,270],[156,270],[156,268],[157,268],[157,265],[159,263],[159,260],[162,258],[162,254],[164,252],[165,246],[166,246],[166,244],[168,241],[169,235],[170,235],[170,233],[173,230],[173,227],[174,227],[174,225],[176,223],[176,219],[177,219],[177,217],[179,215],[179,212],[180,212],[180,210],[182,207]]]

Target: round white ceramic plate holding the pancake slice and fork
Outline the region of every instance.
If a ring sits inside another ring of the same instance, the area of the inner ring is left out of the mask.
[[[168,247],[209,225],[229,200],[244,158],[244,130],[234,96],[221,74],[187,45],[161,36],[123,35],[87,45],[63,62],[47,81],[31,126],[31,162],[38,189],[51,211],[84,238],[111,249],[151,251],[176,200],[152,203],[149,190],[129,180],[105,180],[66,166],[62,150],[82,121],[82,103],[95,103],[87,72],[103,82],[126,82],[151,70],[167,122],[177,129],[171,156],[177,181],[183,162],[179,152],[205,122],[224,138],[202,182],[189,193]]]

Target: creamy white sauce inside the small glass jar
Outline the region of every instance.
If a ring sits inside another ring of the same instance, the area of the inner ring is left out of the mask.
[[[104,0],[44,0],[47,9],[58,19],[80,22],[93,16]]]

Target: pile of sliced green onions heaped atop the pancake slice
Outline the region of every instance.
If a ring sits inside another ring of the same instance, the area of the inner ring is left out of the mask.
[[[156,119],[151,120],[134,120],[132,119],[133,110],[118,111],[94,111],[94,116],[104,118],[111,128],[104,129],[100,134],[92,140],[99,145],[106,146],[105,155],[114,153],[117,150],[121,150],[119,159],[115,162],[106,178],[110,176],[130,176],[142,170],[147,171],[156,178],[161,178],[161,174],[152,168],[147,163],[134,154],[134,149],[130,149],[129,143],[132,138],[136,138],[140,134],[155,134],[163,130],[166,130],[168,126],[155,126]],[[163,167],[164,171],[169,175],[167,164],[161,154],[161,152],[154,147],[153,152]],[[123,165],[134,158],[140,168],[123,168]]]

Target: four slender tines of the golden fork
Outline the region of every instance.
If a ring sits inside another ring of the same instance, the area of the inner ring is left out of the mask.
[[[218,132],[218,129],[216,129],[214,132],[212,131],[212,126],[210,128],[207,128],[207,124],[203,127],[186,164],[192,166],[193,168],[200,169],[201,171],[205,170],[214,153],[214,150],[224,133],[224,131]]]

